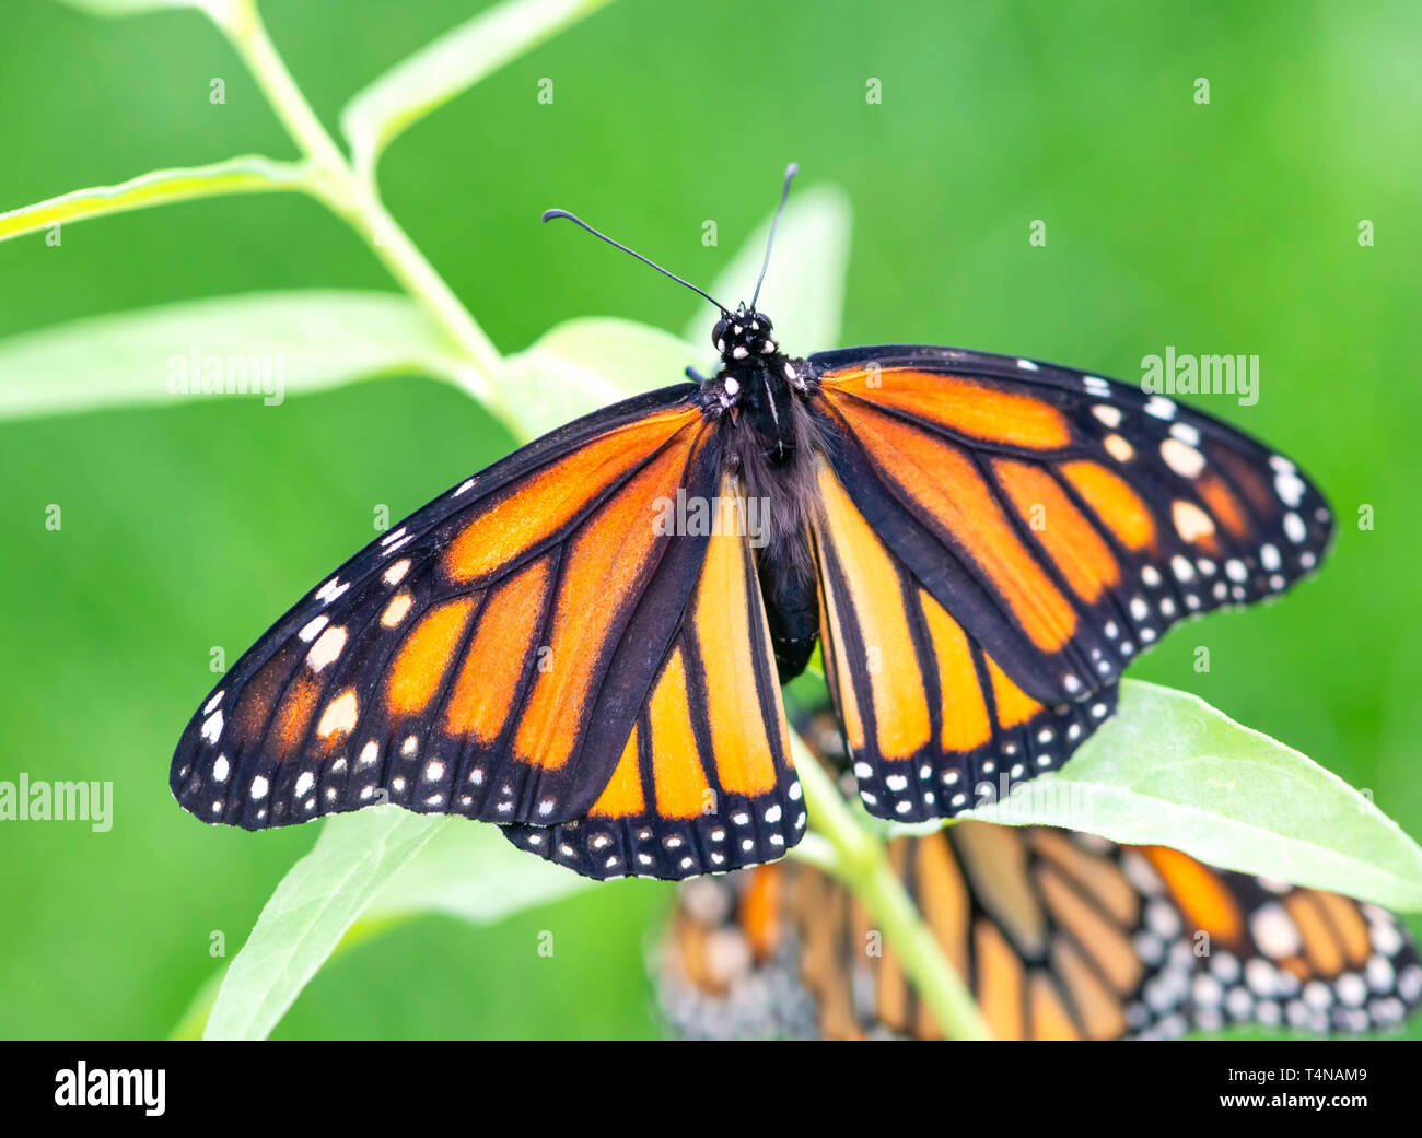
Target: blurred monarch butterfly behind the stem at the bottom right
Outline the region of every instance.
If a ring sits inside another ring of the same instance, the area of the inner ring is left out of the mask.
[[[816,737],[842,752],[829,716]],[[889,854],[997,1039],[1371,1031],[1422,1003],[1408,931],[1337,894],[967,818]],[[870,918],[805,864],[684,882],[658,960],[663,1012],[685,1036],[939,1036]]]

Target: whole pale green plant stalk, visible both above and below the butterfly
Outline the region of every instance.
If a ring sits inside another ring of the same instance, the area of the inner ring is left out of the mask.
[[[230,14],[213,17],[242,55],[272,108],[303,155],[314,165],[314,192],[356,229],[371,251],[439,321],[478,374],[475,398],[518,436],[525,432],[499,391],[503,358],[468,308],[390,215],[367,179],[361,179],[301,94],[286,61],[266,33],[256,0],[235,0]],[[883,926],[924,1003],[951,1039],[990,1039],[977,1004],[939,949],[889,865],[883,845],[855,821],[839,791],[798,735],[791,735],[805,806],[829,851],[812,861],[835,872]]]

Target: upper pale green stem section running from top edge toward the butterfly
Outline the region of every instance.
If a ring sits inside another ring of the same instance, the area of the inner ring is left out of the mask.
[[[246,63],[292,141],[313,163],[313,192],[360,233],[400,286],[439,323],[474,371],[464,376],[474,395],[513,428],[516,419],[499,384],[503,357],[321,125],[267,36],[256,0],[235,0],[230,16],[213,20]]]

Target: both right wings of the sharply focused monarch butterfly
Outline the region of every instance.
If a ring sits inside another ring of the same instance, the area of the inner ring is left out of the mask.
[[[1318,564],[1332,533],[1321,494],[1291,462],[1160,395],[947,348],[846,349],[811,364],[826,440],[822,636],[835,651],[838,614],[846,648],[836,671],[859,678],[836,695],[850,736],[849,693],[862,713],[873,702],[880,719],[892,710],[913,727],[897,740],[862,732],[876,779],[889,777],[880,759],[917,754],[933,732],[866,695],[907,692],[931,719],[940,696],[924,662],[946,663],[950,641],[967,641],[975,686],[1003,686],[1005,706],[1058,709],[1057,722],[1031,723],[1037,754],[1008,753],[995,735],[978,744],[995,750],[978,764],[1031,777],[1111,712],[1113,685],[1142,648],[1186,617],[1277,595]],[[899,612],[880,621],[883,644],[856,644],[853,617],[863,624],[870,609]],[[875,648],[887,669],[877,681],[863,655]],[[923,682],[912,682],[916,671]],[[963,675],[956,686],[967,690],[971,671]],[[964,722],[983,737],[975,710]],[[886,817],[956,813],[953,794],[933,793],[866,803]]]

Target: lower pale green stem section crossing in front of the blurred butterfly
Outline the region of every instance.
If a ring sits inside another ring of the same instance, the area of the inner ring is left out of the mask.
[[[832,871],[879,922],[884,942],[897,953],[939,1027],[948,1039],[991,1039],[977,1002],[919,918],[883,844],[855,821],[833,781],[793,732],[791,750],[811,820],[838,854]]]

